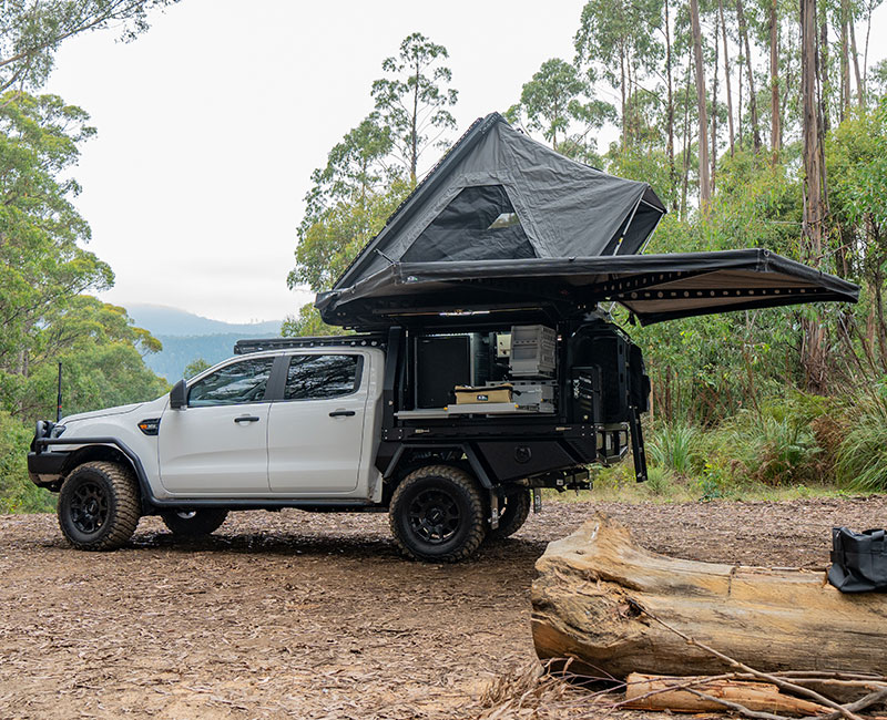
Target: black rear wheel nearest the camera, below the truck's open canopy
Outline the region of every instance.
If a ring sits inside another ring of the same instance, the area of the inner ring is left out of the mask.
[[[456,563],[483,542],[487,523],[477,482],[451,465],[414,470],[395,490],[388,510],[391,534],[405,555]]]

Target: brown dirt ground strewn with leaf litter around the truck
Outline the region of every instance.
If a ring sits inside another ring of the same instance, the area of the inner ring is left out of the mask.
[[[534,657],[529,586],[549,541],[595,510],[702,560],[825,567],[833,525],[887,497],[547,503],[455,566],[401,559],[385,515],[235,513],[183,545],[143,518],[114,553],[52,515],[0,516],[0,718],[466,718]]]

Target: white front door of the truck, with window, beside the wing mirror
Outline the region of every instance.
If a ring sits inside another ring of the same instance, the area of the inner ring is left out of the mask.
[[[176,495],[268,493],[268,379],[274,358],[231,362],[188,388],[160,423],[161,483]]]

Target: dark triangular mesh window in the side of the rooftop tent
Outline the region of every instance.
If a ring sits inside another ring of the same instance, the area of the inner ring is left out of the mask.
[[[463,188],[404,254],[406,263],[536,257],[502,185]]]

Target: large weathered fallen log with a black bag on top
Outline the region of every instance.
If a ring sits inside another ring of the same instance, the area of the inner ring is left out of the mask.
[[[664,557],[600,515],[549,544],[536,567],[537,655],[573,658],[574,672],[624,679],[730,669],[674,628],[765,672],[887,675],[887,596],[842,594],[822,572]]]

